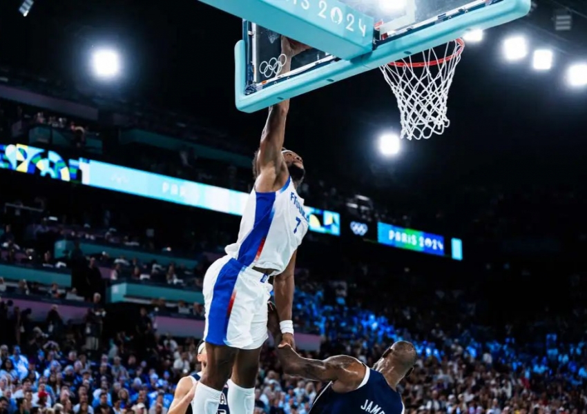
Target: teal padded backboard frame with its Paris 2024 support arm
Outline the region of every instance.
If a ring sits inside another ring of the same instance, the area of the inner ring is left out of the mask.
[[[271,105],[341,81],[389,62],[414,55],[462,37],[468,30],[485,30],[519,19],[530,11],[530,0],[478,0],[467,6],[441,14],[392,34],[367,32],[364,37],[347,34],[324,26],[320,21],[292,8],[292,0],[201,0],[221,10],[254,21],[291,39],[333,55],[310,70],[291,76],[282,76],[262,84],[255,83],[251,61],[250,33],[244,23],[243,40],[238,41],[235,53],[235,103],[243,112],[255,112]],[[314,1],[314,0],[307,0]],[[333,1],[333,0],[330,0]],[[336,0],[334,0],[336,1]],[[434,0],[432,0],[434,1]],[[238,10],[236,10],[236,6]],[[345,12],[356,19],[373,24],[373,19],[338,2]],[[369,20],[370,19],[370,20]],[[362,33],[360,33],[362,34]],[[344,59],[340,57],[345,57]]]

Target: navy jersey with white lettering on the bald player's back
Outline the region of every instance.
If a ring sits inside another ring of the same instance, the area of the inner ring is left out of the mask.
[[[403,414],[403,402],[381,373],[367,368],[365,379],[350,393],[336,393],[332,383],[320,391],[309,414]]]

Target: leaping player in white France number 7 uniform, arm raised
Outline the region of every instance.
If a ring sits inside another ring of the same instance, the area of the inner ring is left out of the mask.
[[[281,47],[286,57],[282,72],[289,72],[291,58],[307,47],[286,38]],[[272,288],[282,321],[282,342],[294,348],[294,266],[308,221],[304,200],[296,193],[305,172],[302,159],[283,148],[288,110],[288,100],[269,108],[253,159],[255,184],[240,221],[238,240],[227,246],[227,255],[214,262],[204,277],[208,366],[195,391],[193,410],[197,414],[216,413],[227,381],[231,413],[253,413]]]

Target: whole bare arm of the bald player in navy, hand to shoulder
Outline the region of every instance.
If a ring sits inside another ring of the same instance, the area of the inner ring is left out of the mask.
[[[269,304],[269,322],[267,328],[276,343],[281,342],[281,330],[277,312]],[[333,382],[336,391],[345,392],[356,389],[365,377],[367,367],[358,359],[346,355],[329,357],[324,361],[301,357],[289,344],[277,348],[277,355],[283,371],[307,380]]]

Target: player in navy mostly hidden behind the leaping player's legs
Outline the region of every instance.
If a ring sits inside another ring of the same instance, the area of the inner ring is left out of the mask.
[[[195,394],[195,388],[198,385],[198,381],[204,373],[208,365],[208,355],[206,355],[206,344],[204,341],[200,341],[198,344],[198,362],[202,364],[202,371],[197,374],[183,377],[180,382],[177,383],[175,388],[175,395],[173,395],[173,402],[169,407],[168,414],[197,414],[193,411],[193,396]],[[224,386],[222,395],[220,395],[220,405],[218,406],[218,414],[230,414],[229,406],[227,403],[227,386]]]

